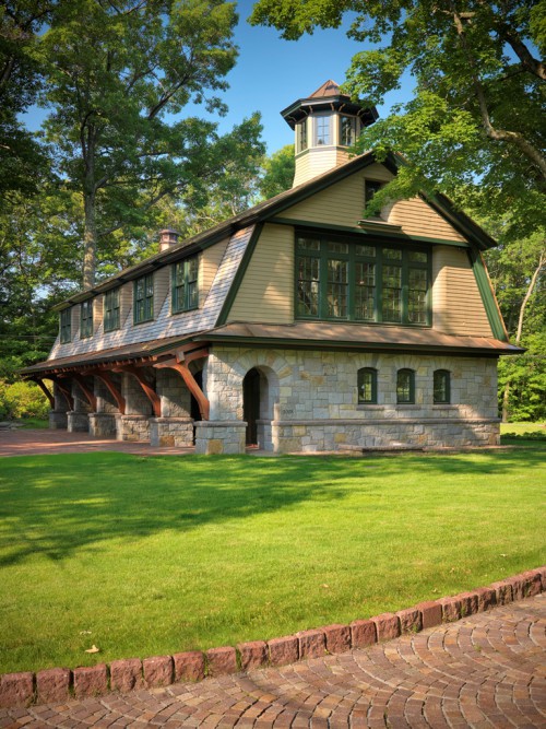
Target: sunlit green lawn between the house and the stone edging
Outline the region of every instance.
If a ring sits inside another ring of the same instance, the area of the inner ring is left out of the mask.
[[[0,672],[269,638],[536,567],[545,456],[1,459]]]

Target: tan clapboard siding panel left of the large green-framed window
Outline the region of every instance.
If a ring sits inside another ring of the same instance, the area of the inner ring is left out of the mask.
[[[294,230],[266,224],[227,321],[294,321]]]

